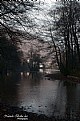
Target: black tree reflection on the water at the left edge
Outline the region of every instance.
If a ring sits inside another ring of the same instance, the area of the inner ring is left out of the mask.
[[[20,75],[0,80],[0,101],[11,105],[18,104],[17,84],[20,81]],[[16,100],[17,99],[17,100]]]

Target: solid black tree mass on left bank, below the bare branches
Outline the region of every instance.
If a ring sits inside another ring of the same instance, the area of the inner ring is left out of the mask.
[[[21,52],[5,36],[0,37],[0,75],[19,72]]]

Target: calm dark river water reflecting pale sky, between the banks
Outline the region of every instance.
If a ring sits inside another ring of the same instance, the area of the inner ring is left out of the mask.
[[[52,80],[41,73],[0,81],[0,101],[47,116],[80,114],[80,84]]]

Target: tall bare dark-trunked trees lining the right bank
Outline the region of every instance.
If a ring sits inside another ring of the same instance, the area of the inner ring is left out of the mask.
[[[49,13],[54,19],[49,29],[60,71],[64,75],[80,69],[80,3],[61,0]]]

